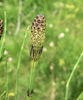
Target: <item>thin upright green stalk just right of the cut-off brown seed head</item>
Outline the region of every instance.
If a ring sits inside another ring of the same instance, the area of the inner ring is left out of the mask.
[[[3,33],[3,38],[1,42],[1,48],[0,48],[0,58],[3,55],[3,49],[4,49],[5,37],[6,37],[6,27],[7,27],[7,17],[6,17],[6,11],[4,11],[4,33]]]

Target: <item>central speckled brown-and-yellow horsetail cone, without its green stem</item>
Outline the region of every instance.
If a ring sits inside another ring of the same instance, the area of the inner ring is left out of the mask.
[[[45,18],[39,14],[31,26],[31,59],[37,61],[40,58],[45,39]]]

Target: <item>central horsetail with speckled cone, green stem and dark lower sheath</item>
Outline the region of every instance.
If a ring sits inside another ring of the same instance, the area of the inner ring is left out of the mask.
[[[31,49],[30,57],[32,61],[31,72],[30,72],[30,82],[27,96],[33,94],[34,88],[34,75],[35,75],[35,66],[42,54],[43,44],[45,40],[45,18],[42,14],[39,14],[34,19],[31,26]]]

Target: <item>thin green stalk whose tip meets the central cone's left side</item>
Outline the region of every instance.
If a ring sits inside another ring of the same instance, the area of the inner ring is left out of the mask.
[[[29,31],[29,27],[27,28],[27,31]],[[25,41],[26,41],[26,38],[27,38],[27,31],[25,32],[25,37],[24,37],[24,40],[22,42],[20,53],[19,53],[19,57],[18,57],[18,64],[17,64],[17,70],[16,70],[16,91],[15,91],[16,92],[16,97],[15,97],[15,100],[17,100],[18,72],[19,72],[19,68],[20,68],[20,64],[21,64],[21,56],[22,56],[23,48],[24,48]]]

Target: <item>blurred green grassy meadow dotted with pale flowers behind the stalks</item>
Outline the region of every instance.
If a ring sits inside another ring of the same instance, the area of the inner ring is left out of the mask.
[[[82,0],[0,0],[0,18],[7,11],[7,35],[4,56],[0,60],[0,94],[6,90],[9,62],[9,100],[15,100],[16,68],[26,28],[38,14],[46,19],[45,43],[35,76],[34,100],[64,100],[69,75],[83,51]],[[30,76],[30,33],[23,50],[19,70],[18,100],[27,100]],[[0,40],[1,44],[1,40]],[[72,78],[69,99],[83,91],[83,60]],[[5,96],[0,98],[4,100]]]

